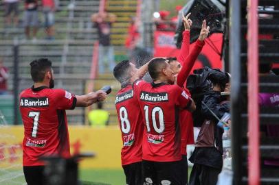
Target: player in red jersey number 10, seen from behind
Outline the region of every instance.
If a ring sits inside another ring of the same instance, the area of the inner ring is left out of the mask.
[[[168,60],[157,58],[148,64],[150,84],[135,81],[133,90],[144,116],[142,164],[144,184],[181,184],[181,136],[179,110],[193,111],[195,104],[175,83]]]

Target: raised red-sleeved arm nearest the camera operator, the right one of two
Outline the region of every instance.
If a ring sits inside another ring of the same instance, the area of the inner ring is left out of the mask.
[[[194,62],[197,60],[199,53],[203,49],[203,45],[205,44],[204,40],[209,34],[210,27],[206,26],[206,21],[203,21],[203,25],[201,26],[201,33],[199,34],[199,38],[194,45],[194,49],[191,51],[190,55],[186,58],[185,62],[183,62],[183,66],[179,74],[177,75],[177,85],[183,86],[186,81],[192,67],[194,66]]]

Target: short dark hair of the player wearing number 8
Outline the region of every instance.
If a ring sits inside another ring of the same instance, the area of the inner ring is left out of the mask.
[[[113,69],[113,76],[118,80],[121,84],[129,78],[129,69],[130,69],[130,61],[122,60],[119,62]]]

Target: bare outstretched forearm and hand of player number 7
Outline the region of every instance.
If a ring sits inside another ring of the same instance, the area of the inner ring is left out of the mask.
[[[107,93],[102,90],[89,93],[87,95],[76,96],[77,107],[88,107],[98,101],[104,101],[107,98]]]

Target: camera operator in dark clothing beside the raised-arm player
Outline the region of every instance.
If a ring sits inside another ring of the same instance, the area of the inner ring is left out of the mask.
[[[189,185],[217,183],[218,175],[223,166],[223,128],[218,127],[218,119],[225,112],[230,112],[227,96],[221,92],[230,93],[229,75],[219,70],[211,70],[206,82],[208,90],[201,102],[201,116],[205,118],[195,144],[190,162],[194,163],[190,174]]]

